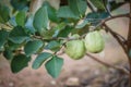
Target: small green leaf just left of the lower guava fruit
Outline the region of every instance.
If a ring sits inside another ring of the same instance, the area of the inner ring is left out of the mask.
[[[58,42],[58,41],[50,41],[45,47],[45,49],[49,49],[49,50],[52,50],[52,51],[58,51],[60,49],[60,42]]]

